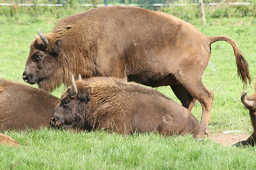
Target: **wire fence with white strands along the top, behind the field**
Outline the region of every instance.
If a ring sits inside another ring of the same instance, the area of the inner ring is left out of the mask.
[[[198,6],[199,0],[1,0],[0,5],[18,6]],[[206,0],[205,6],[216,5],[255,5],[255,0]]]

